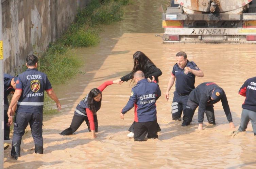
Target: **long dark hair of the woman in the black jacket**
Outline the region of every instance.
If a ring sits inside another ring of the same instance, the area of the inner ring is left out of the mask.
[[[146,73],[146,67],[148,64],[153,64],[154,63],[148,58],[143,52],[137,51],[133,54],[133,70],[132,73],[134,74],[138,70],[141,70],[142,72]]]

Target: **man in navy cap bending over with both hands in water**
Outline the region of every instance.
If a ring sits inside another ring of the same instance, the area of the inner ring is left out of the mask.
[[[227,97],[222,88],[214,82],[204,82],[196,87],[190,94],[186,109],[184,110],[182,126],[187,126],[192,121],[195,109],[198,108],[198,129],[203,129],[204,113],[212,114],[212,120],[215,122],[213,104],[221,100],[224,112],[229,122],[229,127],[234,128],[232,115],[227,102]],[[208,119],[209,120],[209,119]]]

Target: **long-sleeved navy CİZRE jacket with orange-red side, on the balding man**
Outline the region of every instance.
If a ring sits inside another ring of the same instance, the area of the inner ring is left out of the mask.
[[[160,96],[161,91],[157,83],[142,79],[132,88],[131,97],[123,108],[122,114],[125,114],[135,106],[134,121],[154,121],[156,120],[156,100]]]

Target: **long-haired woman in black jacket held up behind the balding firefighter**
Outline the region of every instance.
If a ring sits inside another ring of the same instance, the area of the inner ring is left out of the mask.
[[[143,52],[137,51],[133,54],[133,70],[131,73],[121,77],[119,79],[120,84],[122,84],[124,81],[128,81],[130,79],[133,79],[133,74],[141,70],[144,74],[145,77],[148,78],[148,81],[152,81],[152,76],[155,77],[156,82],[158,83],[158,76],[162,75],[162,72],[160,69],[158,69],[154,63],[148,58]],[[134,122],[129,128],[130,133],[127,135],[130,138],[133,138],[133,133],[134,133]],[[157,131],[161,131],[158,123],[157,123]]]

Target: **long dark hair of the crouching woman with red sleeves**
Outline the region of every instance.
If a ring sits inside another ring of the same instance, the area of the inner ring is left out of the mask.
[[[100,101],[93,100],[93,98],[98,96],[98,94],[101,94],[101,91],[97,88],[93,88],[88,94],[87,102],[88,102],[89,109],[93,114],[96,114],[97,109],[101,107],[102,95],[101,95]]]

